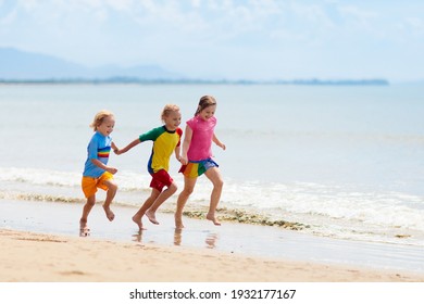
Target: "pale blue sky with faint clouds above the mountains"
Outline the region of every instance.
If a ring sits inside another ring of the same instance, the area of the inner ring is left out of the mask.
[[[423,0],[0,0],[0,47],[187,77],[424,79]]]

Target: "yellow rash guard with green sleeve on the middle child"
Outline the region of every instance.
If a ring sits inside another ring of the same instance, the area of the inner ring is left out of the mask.
[[[161,169],[170,169],[170,157],[176,147],[180,144],[180,138],[183,130],[177,128],[174,131],[170,131],[165,126],[154,128],[144,135],[140,135],[140,142],[152,140],[153,148],[149,159],[147,168],[150,174],[157,173]]]

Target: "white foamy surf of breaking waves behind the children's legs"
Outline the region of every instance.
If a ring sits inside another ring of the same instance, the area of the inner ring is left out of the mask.
[[[48,195],[82,198],[82,174],[40,168],[0,168],[3,192],[30,193],[37,188]],[[117,199],[139,205],[148,192],[151,177],[130,170],[120,172]],[[175,176],[183,188],[183,177]],[[1,188],[0,187],[0,190]],[[189,205],[207,206],[211,182],[201,177]],[[3,195],[4,197],[4,195]],[[176,198],[173,198],[176,200]],[[309,225],[309,232],[347,239],[396,243],[424,243],[424,203],[422,198],[401,192],[360,191],[352,186],[305,182],[266,183],[225,179],[221,207],[267,215],[272,219]]]

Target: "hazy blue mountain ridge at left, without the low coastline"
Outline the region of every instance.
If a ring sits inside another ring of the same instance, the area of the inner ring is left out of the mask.
[[[110,79],[137,78],[141,80],[179,79],[182,75],[158,65],[120,67],[115,65],[90,68],[60,58],[24,52],[13,48],[0,48],[0,79]]]

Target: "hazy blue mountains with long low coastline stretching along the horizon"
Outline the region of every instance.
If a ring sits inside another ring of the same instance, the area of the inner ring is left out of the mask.
[[[203,79],[189,78],[158,65],[87,67],[60,58],[0,48],[0,83],[169,83],[169,84],[275,84],[307,86],[387,86],[386,79]]]

